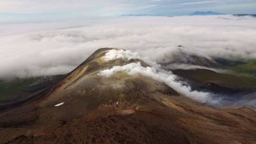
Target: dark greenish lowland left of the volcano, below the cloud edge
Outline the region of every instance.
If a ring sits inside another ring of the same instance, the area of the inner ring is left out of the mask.
[[[65,76],[4,79],[0,82],[0,111],[34,102],[51,91]]]

